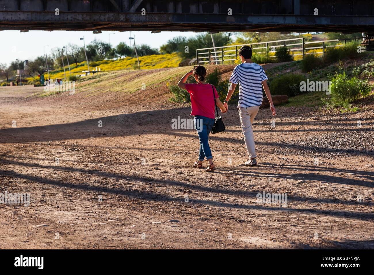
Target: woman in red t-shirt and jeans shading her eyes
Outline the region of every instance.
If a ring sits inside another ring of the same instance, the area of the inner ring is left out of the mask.
[[[197,83],[185,84],[189,75],[193,74]],[[197,130],[197,135],[200,140],[200,153],[198,160],[193,167],[202,168],[202,161],[204,158],[209,163],[206,172],[214,170],[212,161],[212,152],[209,147],[208,136],[214,126],[215,118],[215,104],[221,109],[221,112],[226,112],[226,108],[218,98],[218,93],[215,87],[211,84],[205,83],[206,70],[205,67],[198,65],[194,66],[192,71],[187,72],[184,77],[178,82],[178,86],[186,89],[191,97],[191,115],[194,116],[194,123]]]

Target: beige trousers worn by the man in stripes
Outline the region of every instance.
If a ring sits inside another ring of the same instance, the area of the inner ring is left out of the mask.
[[[249,158],[256,157],[255,140],[253,137],[252,123],[257,115],[260,106],[239,108],[240,124],[242,124],[242,132],[244,135],[245,146],[248,151]]]

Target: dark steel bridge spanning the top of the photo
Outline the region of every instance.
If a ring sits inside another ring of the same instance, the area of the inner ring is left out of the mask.
[[[0,0],[0,30],[374,33],[374,1]]]

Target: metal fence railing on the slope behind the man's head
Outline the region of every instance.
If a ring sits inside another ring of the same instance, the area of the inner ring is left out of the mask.
[[[362,51],[374,49],[373,41],[371,39],[364,40],[360,38],[349,39],[335,39],[335,40],[321,40],[321,41],[304,41],[304,37],[291,38],[285,40],[267,41],[259,43],[240,44],[232,46],[211,47],[196,50],[196,64],[234,64],[234,61],[239,59],[238,50],[242,46],[250,46],[254,54],[266,54],[270,58],[275,58],[277,48],[286,47],[289,49],[292,56],[302,56],[317,54],[324,55],[329,47],[339,47],[347,43],[349,40],[355,40]],[[361,40],[361,42],[359,42]]]

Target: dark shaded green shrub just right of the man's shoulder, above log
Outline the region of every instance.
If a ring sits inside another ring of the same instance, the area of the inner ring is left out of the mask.
[[[295,96],[303,92],[300,91],[301,81],[306,81],[300,74],[283,74],[274,78],[270,83],[270,92],[272,95]]]

